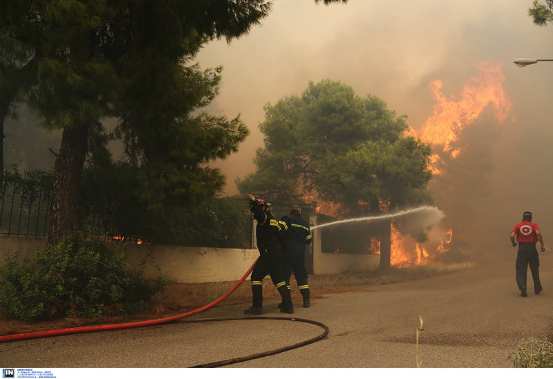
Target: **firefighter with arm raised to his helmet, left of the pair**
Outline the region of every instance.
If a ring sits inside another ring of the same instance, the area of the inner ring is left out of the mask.
[[[270,275],[274,286],[277,287],[282,298],[282,313],[294,313],[290,290],[282,276],[282,249],[281,240],[285,233],[285,224],[277,222],[268,210],[268,203],[256,199],[254,195],[246,195],[250,200],[250,211],[257,221],[256,239],[259,249],[259,259],[252,271],[252,307],[244,313],[259,315],[263,313],[263,279]]]

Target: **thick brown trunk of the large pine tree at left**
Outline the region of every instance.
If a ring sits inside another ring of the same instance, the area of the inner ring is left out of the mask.
[[[65,128],[54,164],[54,187],[50,208],[48,243],[66,235],[75,242],[79,232],[79,182],[86,157],[88,124]]]

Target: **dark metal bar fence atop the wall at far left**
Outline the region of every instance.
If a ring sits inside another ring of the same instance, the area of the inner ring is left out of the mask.
[[[4,176],[0,187],[0,235],[46,237],[51,188],[27,177]]]

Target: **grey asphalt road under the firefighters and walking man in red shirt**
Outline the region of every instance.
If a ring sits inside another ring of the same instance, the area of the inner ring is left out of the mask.
[[[328,295],[309,309],[298,304],[294,317],[326,324],[326,338],[226,367],[512,367],[508,357],[518,339],[553,340],[553,253],[541,254],[543,292],[535,295],[529,279],[527,298],[514,281],[515,254],[459,273]],[[223,302],[156,327],[6,342],[1,366],[192,367],[279,349],[323,331],[290,320],[186,322],[240,318],[243,309]],[[265,311],[283,316],[276,300]]]

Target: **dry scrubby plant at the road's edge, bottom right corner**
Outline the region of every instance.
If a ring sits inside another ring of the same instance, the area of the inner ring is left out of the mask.
[[[529,338],[525,342],[517,340],[515,352],[509,354],[514,367],[553,367],[553,343],[536,338]]]

